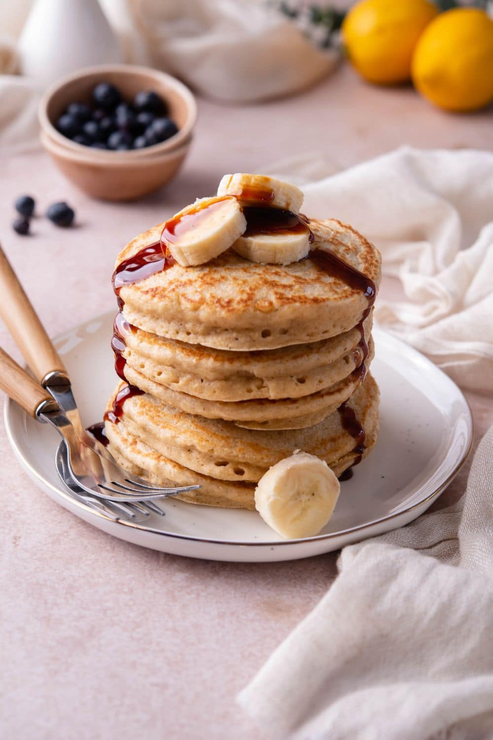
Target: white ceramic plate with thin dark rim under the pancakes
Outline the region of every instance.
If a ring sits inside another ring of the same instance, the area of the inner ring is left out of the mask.
[[[101,420],[115,386],[113,314],[63,334],[55,345],[72,377],[85,425]],[[166,517],[145,524],[112,522],[67,496],[55,471],[59,437],[7,400],[11,445],[35,483],[78,517],[120,539],[154,550],[214,560],[289,560],[341,548],[411,522],[441,494],[472,441],[469,406],[455,383],[422,354],[375,328],[372,372],[381,389],[381,428],[372,454],[341,484],[336,511],[316,537],[283,540],[254,511],[211,508],[174,499]]]

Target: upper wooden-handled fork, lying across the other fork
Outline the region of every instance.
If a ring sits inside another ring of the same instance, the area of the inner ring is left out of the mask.
[[[115,501],[115,497],[118,497],[118,500],[122,502],[120,508],[125,500],[129,502],[139,500],[142,503],[138,506],[135,504],[126,506],[130,517],[135,516],[135,508],[139,509],[141,513],[142,510],[144,512],[147,510],[148,513],[154,511],[162,514],[162,510],[156,504],[149,502],[150,499],[200,488],[200,486],[182,486],[160,489],[150,486],[141,478],[130,474],[125,474],[122,477],[121,468],[116,465],[109,451],[84,429],[72,393],[67,369],[52,345],[50,337],[48,337],[1,246],[0,289],[2,295],[2,301],[0,302],[1,317],[16,340],[36,379],[57,401],[59,410],[64,412],[57,414],[55,408],[52,408],[47,410],[44,420],[55,425],[61,434],[67,435],[69,440],[67,447],[69,473],[78,485],[84,488],[84,483],[81,482],[81,477],[86,474],[84,463],[89,463],[89,467],[92,466],[97,474],[101,474],[101,470],[104,472],[106,468],[106,475],[101,480],[101,487],[98,485],[96,490],[94,477],[92,478],[91,485],[89,485],[90,494],[112,501]],[[18,366],[17,369],[20,370]],[[31,411],[28,411],[28,413],[31,413]],[[69,424],[67,424],[67,420]],[[81,460],[79,451],[82,453],[83,460]],[[118,490],[108,486],[108,481],[115,483]],[[103,493],[101,488],[107,493]],[[147,501],[147,504],[144,501]]]

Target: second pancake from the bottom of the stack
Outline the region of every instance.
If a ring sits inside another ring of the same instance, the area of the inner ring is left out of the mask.
[[[378,386],[370,374],[349,405],[368,439],[375,436]],[[351,454],[356,446],[338,411],[306,429],[253,431],[185,414],[147,394],[126,400],[120,425],[164,457],[197,473],[230,481],[256,482],[271,465],[289,457],[295,449],[317,455],[331,465]],[[111,423],[107,421],[106,426]]]

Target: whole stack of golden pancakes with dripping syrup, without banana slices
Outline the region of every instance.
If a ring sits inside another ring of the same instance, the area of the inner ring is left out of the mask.
[[[307,224],[312,251],[288,265],[232,249],[198,266],[167,262],[164,223],[120,252],[121,381],[105,430],[123,468],[154,484],[200,483],[189,502],[254,508],[256,482],[293,451],[338,477],[371,451],[380,255],[339,221]]]

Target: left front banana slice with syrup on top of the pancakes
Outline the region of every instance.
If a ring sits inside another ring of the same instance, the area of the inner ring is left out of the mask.
[[[245,229],[236,198],[200,198],[166,221],[161,241],[183,267],[201,265],[229,249]]]

